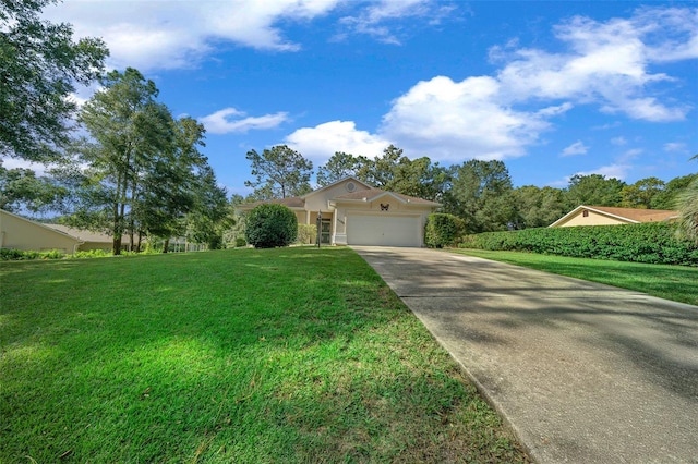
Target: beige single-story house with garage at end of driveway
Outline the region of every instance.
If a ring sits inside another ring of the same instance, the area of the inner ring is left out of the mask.
[[[423,246],[426,218],[441,204],[386,192],[346,178],[298,197],[239,205],[249,211],[262,203],[288,206],[299,224],[316,224],[321,243],[332,245]]]

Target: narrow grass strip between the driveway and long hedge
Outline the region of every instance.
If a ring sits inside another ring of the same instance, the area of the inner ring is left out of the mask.
[[[602,259],[568,258],[520,252],[452,249],[464,255],[636,290],[660,298],[698,305],[698,268]]]

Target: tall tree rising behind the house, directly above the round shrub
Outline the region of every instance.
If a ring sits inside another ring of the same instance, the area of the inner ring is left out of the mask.
[[[262,155],[250,150],[246,158],[252,163],[252,175],[255,180],[245,181],[244,184],[254,188],[251,195],[253,198],[286,198],[312,191],[310,176],[313,173],[313,163],[287,145],[264,149]]]

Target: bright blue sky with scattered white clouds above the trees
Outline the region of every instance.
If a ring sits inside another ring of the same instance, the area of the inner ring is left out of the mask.
[[[698,171],[696,2],[67,0],[45,16],[203,122],[230,193],[249,193],[246,151],[278,144],[315,168],[389,144],[498,159],[515,186]]]

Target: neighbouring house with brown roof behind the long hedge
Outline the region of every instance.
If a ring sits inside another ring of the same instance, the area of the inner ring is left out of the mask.
[[[678,211],[666,209],[616,208],[611,206],[581,205],[573,209],[549,227],[569,228],[575,225],[618,225],[641,222],[673,221]]]

